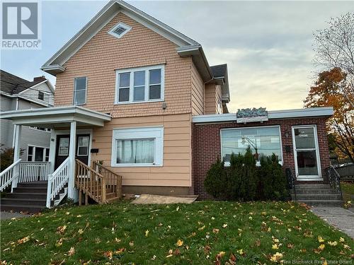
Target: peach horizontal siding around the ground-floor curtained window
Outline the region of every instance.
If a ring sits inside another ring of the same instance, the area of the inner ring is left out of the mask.
[[[162,167],[110,167],[113,129],[142,126],[164,126],[164,158]],[[173,114],[149,117],[113,118],[103,128],[93,130],[91,160],[122,175],[123,185],[190,187],[191,184],[191,116]]]

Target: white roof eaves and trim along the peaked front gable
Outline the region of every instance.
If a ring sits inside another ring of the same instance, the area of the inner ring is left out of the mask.
[[[79,33],[76,33],[69,42],[46,61],[41,69],[53,76],[57,73],[64,72],[65,62],[78,52],[86,42],[91,40],[99,30],[101,30],[120,12],[175,43],[178,46],[176,52],[178,52],[181,57],[193,57],[195,66],[197,66],[204,81],[212,79],[212,71],[202,50],[202,46],[198,42],[195,42],[195,40],[179,33],[177,30],[169,27],[169,25],[162,23],[156,18],[149,16],[147,13],[144,13],[121,0],[113,0],[105,5],[101,11],[99,11],[97,15],[79,31]]]

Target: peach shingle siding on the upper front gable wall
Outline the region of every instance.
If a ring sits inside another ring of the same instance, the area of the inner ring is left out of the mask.
[[[118,22],[132,27],[120,39],[107,32]],[[176,45],[161,35],[118,13],[65,64],[64,73],[57,74],[55,106],[72,105],[74,78],[88,77],[87,100],[84,107],[110,113],[113,117],[142,117],[191,112],[191,57],[181,58]],[[114,105],[115,70],[165,64],[164,99]]]

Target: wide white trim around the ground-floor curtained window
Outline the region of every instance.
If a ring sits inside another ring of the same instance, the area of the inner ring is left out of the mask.
[[[117,140],[155,139],[154,163],[117,163]],[[112,167],[162,167],[164,166],[164,126],[114,128],[111,151]]]

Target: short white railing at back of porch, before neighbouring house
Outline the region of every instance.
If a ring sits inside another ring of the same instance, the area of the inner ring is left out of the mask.
[[[18,182],[47,180],[49,165],[49,162],[21,162]]]

